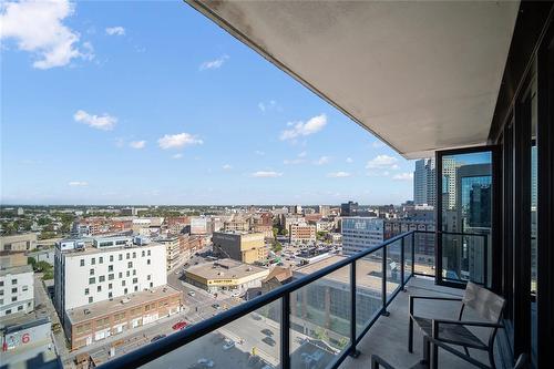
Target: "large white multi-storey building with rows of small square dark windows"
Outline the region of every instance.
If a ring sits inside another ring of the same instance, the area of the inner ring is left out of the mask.
[[[57,245],[54,303],[62,320],[69,309],[167,284],[164,245],[120,246],[121,237],[113,237],[107,246],[107,238],[96,239],[96,247]]]

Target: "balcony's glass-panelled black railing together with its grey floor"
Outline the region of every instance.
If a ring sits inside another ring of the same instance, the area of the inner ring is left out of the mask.
[[[429,263],[433,235],[410,230],[353,256],[331,257],[319,268],[308,265],[285,286],[103,367],[349,368],[369,365],[371,353],[409,367],[422,355],[419,332],[414,353],[408,353],[409,294],[462,294],[429,278],[434,273]],[[448,274],[459,275],[443,271]],[[422,304],[416,312],[423,316],[455,318],[458,311],[454,303]],[[358,358],[349,358],[359,351]],[[449,368],[464,367],[444,352],[439,360]]]

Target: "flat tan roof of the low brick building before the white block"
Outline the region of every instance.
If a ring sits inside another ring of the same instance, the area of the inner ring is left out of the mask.
[[[80,306],[66,310],[65,314],[72,324],[78,324],[80,321],[95,319],[106,315],[112,315],[120,310],[126,310],[135,306],[141,306],[148,301],[155,301],[176,295],[181,296],[181,291],[167,285],[160,286],[140,293],[132,293],[125,296],[116,297],[112,300],[103,300]]]

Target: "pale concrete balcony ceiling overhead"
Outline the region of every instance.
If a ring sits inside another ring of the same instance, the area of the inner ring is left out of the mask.
[[[407,158],[486,143],[520,6],[187,2]]]

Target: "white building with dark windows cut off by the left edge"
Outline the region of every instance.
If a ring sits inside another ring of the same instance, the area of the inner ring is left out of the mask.
[[[0,319],[34,308],[34,279],[30,265],[0,270]]]

